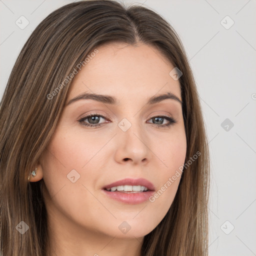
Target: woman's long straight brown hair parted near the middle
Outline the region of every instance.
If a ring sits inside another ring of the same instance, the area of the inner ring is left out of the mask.
[[[162,221],[144,236],[141,256],[205,256],[208,244],[209,156],[195,81],[182,43],[159,14],[111,0],[66,4],[50,13],[24,44],[0,103],[0,251],[46,256],[43,179],[28,182],[57,125],[71,80],[63,80],[99,45],[145,43],[160,50],[179,77],[187,150],[175,198]],[[61,89],[52,99],[47,95]],[[29,229],[21,234],[17,224]]]

